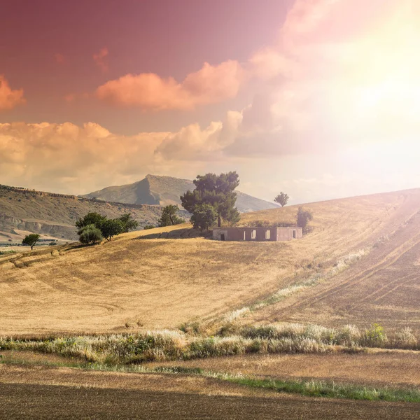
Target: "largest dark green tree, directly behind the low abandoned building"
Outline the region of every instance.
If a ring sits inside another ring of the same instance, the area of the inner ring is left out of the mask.
[[[184,209],[194,215],[196,207],[209,204],[216,211],[219,227],[222,220],[232,224],[239,221],[239,211],[235,207],[237,194],[234,192],[239,186],[239,175],[236,172],[198,175],[193,182],[195,190],[188,190],[181,196]]]

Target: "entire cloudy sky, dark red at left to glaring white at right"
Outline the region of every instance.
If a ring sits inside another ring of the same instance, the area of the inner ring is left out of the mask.
[[[303,203],[420,187],[418,0],[15,0],[0,183],[236,170]]]

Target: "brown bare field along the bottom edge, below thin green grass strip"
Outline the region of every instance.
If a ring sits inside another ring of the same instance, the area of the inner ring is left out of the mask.
[[[161,374],[0,366],[1,419],[419,419],[419,404],[304,398]]]

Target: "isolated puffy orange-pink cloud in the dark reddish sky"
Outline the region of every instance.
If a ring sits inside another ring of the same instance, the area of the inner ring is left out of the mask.
[[[244,78],[241,65],[234,60],[218,66],[204,63],[178,83],[155,73],[127,74],[97,88],[97,97],[109,104],[143,110],[194,109],[235,97]]]

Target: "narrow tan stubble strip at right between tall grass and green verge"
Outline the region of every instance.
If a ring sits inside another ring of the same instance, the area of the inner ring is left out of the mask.
[[[420,354],[414,351],[247,355],[146,363],[144,366],[199,367],[213,372],[253,377],[316,379],[340,384],[420,388]]]

